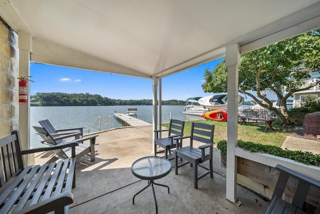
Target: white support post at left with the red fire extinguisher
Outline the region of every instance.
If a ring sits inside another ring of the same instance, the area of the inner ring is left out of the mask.
[[[19,47],[19,76],[30,75],[30,52],[32,50],[32,37],[30,34],[18,32]],[[30,82],[27,87],[27,102],[19,102],[19,133],[22,149],[30,147]],[[26,156],[26,155],[25,155]],[[34,156],[27,156],[25,162],[33,165]]]

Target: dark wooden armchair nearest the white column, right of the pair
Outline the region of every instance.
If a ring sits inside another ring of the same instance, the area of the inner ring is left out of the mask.
[[[198,187],[198,180],[207,174],[213,177],[213,165],[212,165],[212,153],[213,153],[213,135],[214,135],[214,125],[205,123],[195,123],[191,124],[191,134],[190,136],[175,137],[174,140],[190,138],[190,145],[186,147],[176,148],[174,150],[175,158],[175,174],[178,174],[178,167],[181,167],[187,163],[193,166],[193,187]],[[193,147],[193,140],[204,143],[198,148]],[[184,159],[185,161],[178,164],[178,157]],[[204,161],[209,160],[209,168],[201,164]],[[201,175],[198,175],[198,166],[204,168],[206,171]]]

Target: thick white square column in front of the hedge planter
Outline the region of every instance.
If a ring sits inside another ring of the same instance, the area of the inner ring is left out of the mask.
[[[226,147],[226,199],[240,205],[236,192],[237,146],[238,134],[238,66],[240,65],[239,45],[232,44],[225,48],[225,66],[227,68],[227,147]]]

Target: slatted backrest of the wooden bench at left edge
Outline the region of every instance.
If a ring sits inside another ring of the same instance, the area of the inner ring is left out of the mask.
[[[21,145],[18,137],[17,132],[14,132],[14,134],[0,139],[0,187],[23,169]]]

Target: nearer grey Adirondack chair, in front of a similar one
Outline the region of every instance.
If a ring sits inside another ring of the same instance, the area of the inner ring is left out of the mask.
[[[95,137],[98,136],[97,134],[91,134],[91,135],[84,136],[84,137],[81,137],[78,139],[74,139],[74,136],[79,135],[80,132],[74,132],[74,133],[69,133],[69,134],[65,134],[62,136],[54,137],[44,127],[41,127],[41,126],[32,126],[32,127],[36,131],[36,134],[38,134],[42,137],[43,141],[41,141],[41,142],[44,144],[47,144],[49,146],[57,145],[57,144],[64,143],[67,141],[78,142],[78,146],[75,146],[75,160],[76,161],[78,161],[84,155],[89,155],[91,162],[95,160],[94,144],[95,144]],[[90,145],[84,144],[83,141],[85,141],[85,140],[90,140]],[[66,159],[71,156],[71,149],[70,148],[56,149],[56,150],[53,150],[53,152],[55,153],[55,156],[57,156],[61,159]],[[88,153],[90,153],[90,154],[88,154]]]

